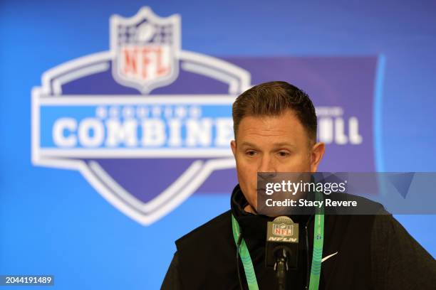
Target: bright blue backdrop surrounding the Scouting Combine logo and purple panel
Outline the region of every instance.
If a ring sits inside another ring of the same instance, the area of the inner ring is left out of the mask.
[[[1,1],[0,274],[54,274],[58,289],[158,289],[174,241],[229,208],[229,194],[197,194],[145,227],[77,171],[31,163],[31,88],[60,63],[108,50],[109,17],[141,6],[180,14],[182,48],[219,58],[384,55],[383,169],[436,171],[434,1]],[[436,256],[434,215],[396,218]]]

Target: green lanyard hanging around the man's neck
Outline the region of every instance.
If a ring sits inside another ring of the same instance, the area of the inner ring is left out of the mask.
[[[316,200],[319,200],[319,194],[316,194]],[[239,241],[239,224],[232,215],[232,231],[235,244]],[[323,207],[316,208],[315,225],[313,227],[313,253],[312,253],[312,267],[309,290],[316,290],[319,286],[319,276],[321,275],[321,259],[323,254],[324,242],[324,213]],[[257,285],[256,273],[254,273],[253,262],[251,261],[250,253],[246,247],[245,240],[242,239],[239,246],[239,257],[241,257],[242,264],[244,265],[244,272],[246,276],[246,283],[249,290],[259,290]]]

